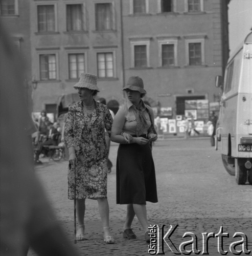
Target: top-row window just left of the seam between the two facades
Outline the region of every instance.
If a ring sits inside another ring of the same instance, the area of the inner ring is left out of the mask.
[[[112,3],[96,4],[96,30],[113,30]]]

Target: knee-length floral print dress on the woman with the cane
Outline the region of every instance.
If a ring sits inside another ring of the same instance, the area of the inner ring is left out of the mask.
[[[92,114],[83,113],[82,102],[72,104],[65,125],[67,147],[77,157],[76,199],[107,197],[107,156],[105,129],[110,134],[112,116],[106,105],[95,101]],[[68,198],[74,199],[74,170],[68,168]]]

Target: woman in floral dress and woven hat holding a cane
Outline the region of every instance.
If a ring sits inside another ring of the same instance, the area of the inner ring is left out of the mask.
[[[75,84],[80,100],[70,105],[65,125],[65,141],[69,151],[68,198],[74,199],[76,172],[77,240],[84,240],[85,199],[97,199],[103,225],[104,242],[114,239],[109,230],[107,201],[107,155],[105,129],[110,134],[112,117],[106,105],[96,102],[99,92],[97,77],[81,74]]]

